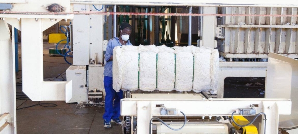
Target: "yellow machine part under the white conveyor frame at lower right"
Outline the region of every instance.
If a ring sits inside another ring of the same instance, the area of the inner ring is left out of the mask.
[[[245,124],[249,123],[249,121],[241,115],[234,116],[234,121],[240,125],[245,125]],[[232,124],[236,130],[239,130],[240,128],[242,128],[243,129],[242,134],[258,134],[258,129],[253,124],[245,126],[245,127],[239,127],[239,126],[235,125],[234,122],[232,122]]]

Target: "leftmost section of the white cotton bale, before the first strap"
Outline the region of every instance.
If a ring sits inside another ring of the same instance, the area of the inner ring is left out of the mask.
[[[138,89],[138,47],[123,46],[115,47],[113,50],[113,89]]]

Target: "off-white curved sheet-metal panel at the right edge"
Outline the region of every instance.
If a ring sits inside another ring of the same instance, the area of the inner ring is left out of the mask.
[[[269,53],[267,69],[265,98],[291,99],[291,115],[280,117],[280,127],[295,127],[298,120],[298,60]],[[290,134],[297,133],[298,129]]]

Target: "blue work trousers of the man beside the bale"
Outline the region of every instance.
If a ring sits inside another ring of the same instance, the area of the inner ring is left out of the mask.
[[[120,100],[123,98],[123,91],[116,92],[113,89],[113,77],[104,76],[103,83],[106,91],[103,119],[111,121],[120,116]]]

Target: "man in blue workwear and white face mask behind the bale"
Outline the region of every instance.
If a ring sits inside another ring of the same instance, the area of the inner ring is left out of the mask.
[[[107,50],[105,53],[106,64],[104,66],[104,89],[106,92],[105,97],[105,111],[103,114],[105,128],[111,128],[111,122],[116,124],[122,124],[122,121],[119,119],[120,116],[120,99],[123,98],[123,91],[120,90],[116,92],[113,89],[113,75],[112,75],[112,66],[113,66],[113,49],[116,46],[132,45],[129,42],[129,36],[132,32],[132,27],[129,23],[122,23],[119,28],[120,36],[110,39],[107,45]],[[113,105],[113,99],[114,105]]]

